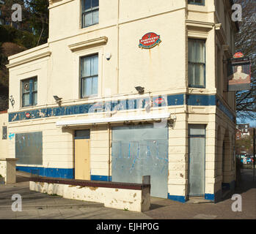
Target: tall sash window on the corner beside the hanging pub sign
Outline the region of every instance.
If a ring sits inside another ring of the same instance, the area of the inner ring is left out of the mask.
[[[205,88],[205,40],[189,39],[189,87]]]

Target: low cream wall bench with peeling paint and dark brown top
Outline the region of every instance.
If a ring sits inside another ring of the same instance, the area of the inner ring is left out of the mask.
[[[103,203],[109,208],[143,212],[150,209],[150,179],[143,181],[145,184],[34,177],[30,178],[29,189],[67,199]]]

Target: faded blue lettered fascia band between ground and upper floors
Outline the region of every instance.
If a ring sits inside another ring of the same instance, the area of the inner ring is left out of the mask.
[[[159,99],[161,102],[159,102]],[[214,106],[216,105],[216,95],[196,95],[196,94],[173,94],[158,95],[153,97],[153,107],[175,106],[175,105],[199,105]],[[48,107],[37,110],[27,110],[22,112],[9,113],[9,122],[29,120],[34,118],[48,118],[51,116],[71,116],[87,113],[104,113],[113,110],[136,110],[145,108],[150,101],[148,97],[139,99],[122,99],[108,102],[94,102],[84,105],[71,105],[63,107]],[[219,99],[218,99],[219,101]],[[219,101],[219,109],[222,110],[230,119],[234,120],[235,116],[228,108]],[[26,118],[26,113],[30,114]]]

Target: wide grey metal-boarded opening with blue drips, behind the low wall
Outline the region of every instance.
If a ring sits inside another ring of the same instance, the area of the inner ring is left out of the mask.
[[[168,128],[153,124],[112,129],[112,181],[142,183],[151,176],[151,195],[167,198]]]

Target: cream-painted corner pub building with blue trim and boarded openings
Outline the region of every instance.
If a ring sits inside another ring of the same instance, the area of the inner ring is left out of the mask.
[[[217,201],[235,181],[232,1],[49,1],[48,43],[9,57],[9,156],[40,176]]]

